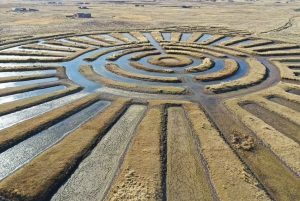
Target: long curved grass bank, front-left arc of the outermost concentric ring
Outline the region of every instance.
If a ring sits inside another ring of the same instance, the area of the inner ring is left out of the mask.
[[[90,65],[79,66],[79,71],[88,79],[104,84],[109,87],[124,89],[137,92],[163,93],[163,94],[187,94],[188,90],[184,87],[166,87],[166,86],[145,86],[116,81],[97,74]]]

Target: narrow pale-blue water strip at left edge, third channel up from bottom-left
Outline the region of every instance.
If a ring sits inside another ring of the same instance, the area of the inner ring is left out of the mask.
[[[29,92],[4,96],[4,97],[0,97],[0,104],[7,103],[7,102],[12,102],[12,101],[16,101],[16,100],[20,100],[20,99],[24,99],[24,98],[30,98],[30,97],[34,97],[34,96],[37,96],[37,95],[50,93],[50,92],[53,92],[53,91],[58,91],[58,90],[61,90],[61,89],[64,89],[64,88],[65,88],[65,86],[55,86],[55,87],[37,89],[37,90],[29,91]]]

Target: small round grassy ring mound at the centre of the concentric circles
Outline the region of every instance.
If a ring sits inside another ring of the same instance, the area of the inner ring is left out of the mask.
[[[155,55],[148,59],[148,62],[163,67],[183,67],[192,64],[193,60],[182,55],[164,54]]]

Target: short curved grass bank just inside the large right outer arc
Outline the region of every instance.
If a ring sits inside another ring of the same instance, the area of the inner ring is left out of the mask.
[[[238,69],[239,69],[239,64],[232,59],[226,59],[224,61],[224,68],[221,70],[214,72],[214,73],[209,73],[205,75],[197,75],[194,77],[195,80],[201,80],[202,82],[209,82],[213,80],[220,80],[224,79],[226,77],[229,77],[231,75],[234,75]]]

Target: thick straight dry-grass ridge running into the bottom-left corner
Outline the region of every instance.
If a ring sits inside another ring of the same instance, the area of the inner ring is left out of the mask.
[[[47,149],[0,183],[1,195],[9,199],[43,200],[62,182],[105,129],[119,116],[130,99],[120,98],[103,112]],[[84,133],[84,135],[83,135]],[[20,182],[16,182],[20,181]]]

